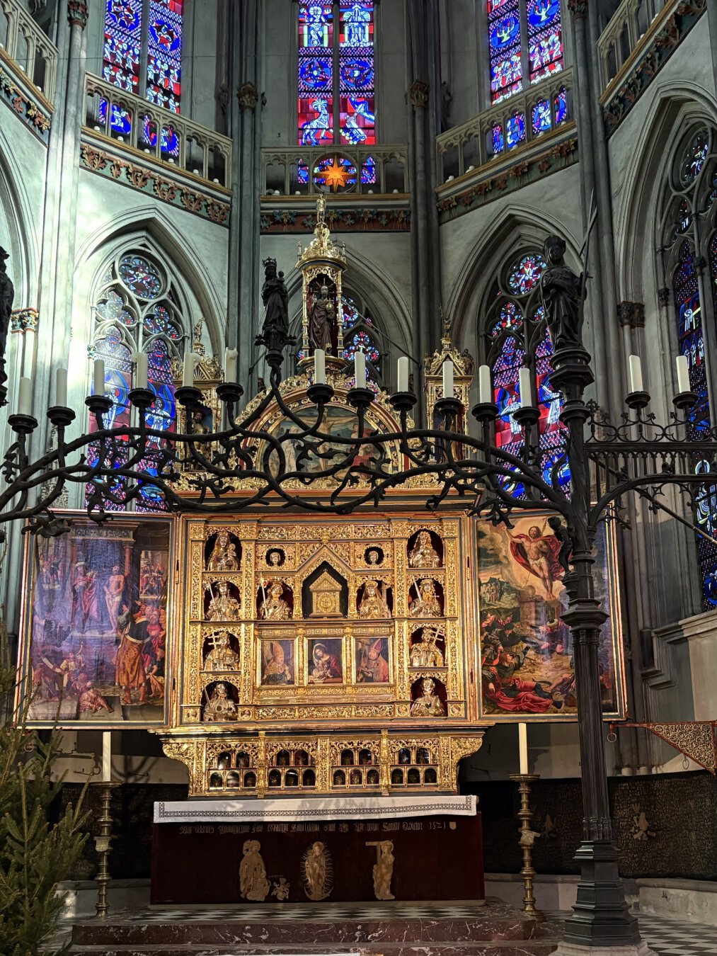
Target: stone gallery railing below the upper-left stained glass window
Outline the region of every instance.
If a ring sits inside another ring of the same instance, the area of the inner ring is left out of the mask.
[[[85,75],[85,125],[209,183],[228,186],[231,140],[99,76]]]

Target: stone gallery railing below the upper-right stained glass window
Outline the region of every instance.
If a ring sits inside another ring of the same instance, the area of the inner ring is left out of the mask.
[[[572,120],[573,71],[546,77],[436,138],[438,181],[445,183],[541,139]]]

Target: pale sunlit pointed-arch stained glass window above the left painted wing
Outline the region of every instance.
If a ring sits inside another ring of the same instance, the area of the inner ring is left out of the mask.
[[[167,435],[175,431],[173,365],[179,361],[184,337],[171,280],[163,268],[144,251],[128,251],[105,273],[97,297],[93,341],[88,349],[93,359],[104,359],[105,395],[112,399],[112,408],[104,417],[106,427],[130,424],[129,391],[133,387],[133,356],[147,355],[148,387],[154,401],[147,409],[147,424]],[[94,419],[90,430],[94,430]],[[162,439],[153,439],[159,449]],[[143,462],[151,474],[152,443]],[[96,455],[94,450],[91,454]],[[120,451],[117,465],[124,459]],[[92,493],[88,486],[87,495]],[[106,511],[122,511],[124,479],[119,477],[110,499],[105,498]],[[147,483],[135,500],[136,511],[164,511],[162,497]]]

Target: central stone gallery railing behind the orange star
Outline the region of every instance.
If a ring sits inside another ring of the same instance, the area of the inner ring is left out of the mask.
[[[323,192],[316,169],[338,167],[346,177],[342,195],[407,193],[405,146],[293,146],[261,151],[265,196],[306,196]],[[330,174],[331,175],[331,174]]]

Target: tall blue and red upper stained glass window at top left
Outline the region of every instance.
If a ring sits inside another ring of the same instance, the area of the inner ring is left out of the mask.
[[[102,76],[173,113],[179,113],[182,96],[182,7],[183,0],[106,0],[104,14]],[[114,118],[113,128],[122,132]]]

